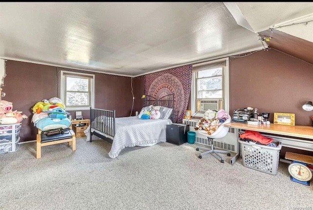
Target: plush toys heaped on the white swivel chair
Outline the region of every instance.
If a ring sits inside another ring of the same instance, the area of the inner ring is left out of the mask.
[[[212,135],[219,126],[227,119],[229,116],[224,110],[207,110],[196,124],[195,130],[204,130],[208,135]]]

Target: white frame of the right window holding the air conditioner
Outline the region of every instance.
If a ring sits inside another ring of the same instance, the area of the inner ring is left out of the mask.
[[[224,72],[223,72],[223,99],[224,99],[224,110],[226,113],[229,113],[229,59],[228,58],[223,58],[223,59],[218,59],[214,61],[208,61],[205,63],[202,63],[201,65],[197,66],[205,66],[213,63],[218,63],[218,62],[224,62],[225,61],[225,67],[224,67]],[[203,112],[198,112],[197,113],[197,72],[192,73],[192,81],[191,81],[191,111],[192,115],[196,117],[203,117],[204,113]],[[211,99],[207,99],[211,100]],[[213,100],[213,99],[212,99]],[[197,114],[196,114],[197,113]]]

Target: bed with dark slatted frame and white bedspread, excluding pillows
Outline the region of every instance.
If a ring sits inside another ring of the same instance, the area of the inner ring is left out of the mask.
[[[138,116],[115,117],[115,110],[93,109],[90,107],[90,125],[86,130],[90,142],[92,136],[112,142],[109,156],[116,158],[125,147],[152,146],[166,141],[166,125],[174,122],[174,93],[155,98],[146,95],[144,108],[160,106],[170,110],[161,119],[142,119]],[[141,113],[141,112],[140,112]],[[139,114],[140,116],[140,114]]]

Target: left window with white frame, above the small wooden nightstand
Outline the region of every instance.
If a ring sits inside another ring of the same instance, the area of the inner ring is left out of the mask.
[[[94,75],[61,70],[60,96],[67,111],[93,107]]]

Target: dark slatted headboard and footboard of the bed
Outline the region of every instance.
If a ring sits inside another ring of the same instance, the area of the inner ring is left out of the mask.
[[[168,94],[165,96],[156,99],[151,95],[146,95],[144,98],[144,107],[149,105],[154,106],[164,106],[168,108],[172,108],[172,114],[169,117],[174,123],[175,118],[175,110],[174,110],[174,93]],[[105,116],[104,123],[94,123],[97,117]],[[91,132],[91,129],[94,129]],[[98,132],[96,132],[98,131]],[[101,134],[100,134],[100,133]],[[93,109],[90,107],[90,142],[92,141],[92,135],[95,135],[101,139],[110,138],[113,139],[116,132],[115,128],[115,110],[103,110],[103,109]]]

